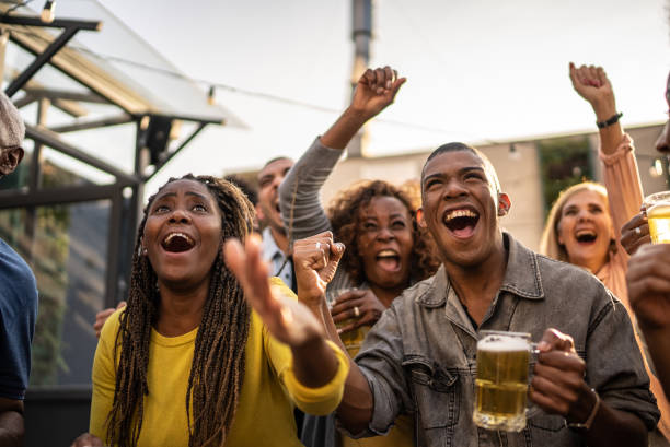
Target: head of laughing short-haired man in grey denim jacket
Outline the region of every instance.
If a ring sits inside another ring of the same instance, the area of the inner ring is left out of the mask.
[[[443,152],[424,167],[419,222],[447,263],[477,267],[505,249],[498,215],[510,203],[507,195],[496,192],[490,170],[467,150]]]

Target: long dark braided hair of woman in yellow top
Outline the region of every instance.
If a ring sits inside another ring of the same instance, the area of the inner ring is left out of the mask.
[[[254,209],[233,184],[210,176],[185,175],[175,180],[194,180],[205,185],[221,212],[219,248],[229,237],[244,240],[252,230]],[[159,190],[160,192],[160,190]],[[155,195],[149,198],[140,223],[130,274],[128,304],[119,317],[114,357],[118,360],[114,402],[107,416],[109,445],[137,445],[142,427],[149,365],[149,341],[160,303],[157,275],[141,239],[147,212]],[[211,267],[208,298],[195,340],[193,364],[186,390],[188,446],[223,446],[232,425],[244,378],[244,351],[251,308],[241,285],[226,267],[221,249]]]

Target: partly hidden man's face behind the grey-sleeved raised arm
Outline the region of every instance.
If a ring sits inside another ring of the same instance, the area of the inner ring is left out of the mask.
[[[293,166],[293,161],[279,158],[268,163],[258,173],[258,204],[256,214],[258,220],[277,232],[284,232],[284,222],[279,213],[279,185],[286,174]]]

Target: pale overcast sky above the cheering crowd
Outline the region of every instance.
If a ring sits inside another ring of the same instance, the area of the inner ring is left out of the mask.
[[[328,109],[347,104],[348,0],[103,4],[188,77]],[[370,126],[368,153],[594,129],[571,90],[570,60],[605,68],[624,126],[659,122],[668,15],[666,0],[378,0],[371,64],[390,64],[408,81],[382,114],[386,122]],[[217,102],[247,129],[208,127],[154,184],[298,157],[337,116],[229,91],[218,91]]]

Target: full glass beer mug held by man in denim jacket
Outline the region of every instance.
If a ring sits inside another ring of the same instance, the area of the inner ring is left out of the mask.
[[[530,333],[480,332],[474,423],[482,428],[520,432],[525,427],[531,353]]]

